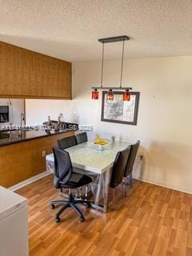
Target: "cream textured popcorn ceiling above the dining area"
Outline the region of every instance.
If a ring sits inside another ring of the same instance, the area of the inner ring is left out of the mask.
[[[72,62],[101,59],[98,38],[123,34],[126,58],[190,55],[191,28],[192,0],[0,0],[1,41]]]

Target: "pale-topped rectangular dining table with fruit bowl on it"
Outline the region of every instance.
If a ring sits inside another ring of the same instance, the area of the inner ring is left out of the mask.
[[[67,148],[75,172],[90,175],[93,178],[94,202],[92,206],[107,211],[110,174],[118,151],[125,150],[129,142],[108,142],[106,146],[96,146],[94,142],[85,142]],[[46,155],[46,169],[54,172],[54,155]],[[102,201],[102,203],[101,203]]]

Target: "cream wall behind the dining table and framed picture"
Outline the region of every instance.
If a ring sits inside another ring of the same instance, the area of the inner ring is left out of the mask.
[[[138,126],[127,126],[101,122],[101,97],[90,99],[90,87],[100,82],[101,63],[74,63],[74,100],[27,100],[27,121],[43,122],[47,115],[57,118],[62,112],[66,121],[93,125],[94,134],[140,139],[144,161],[138,162],[134,177],[192,193],[191,66],[192,56],[126,61],[122,83],[141,92]],[[104,85],[118,85],[120,62],[106,62],[104,68]]]

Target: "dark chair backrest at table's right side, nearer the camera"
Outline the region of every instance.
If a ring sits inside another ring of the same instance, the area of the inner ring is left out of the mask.
[[[130,146],[126,150],[119,151],[114,160],[114,166],[110,179],[110,187],[114,188],[122,182],[123,174],[126,169],[127,159],[130,154]]]

